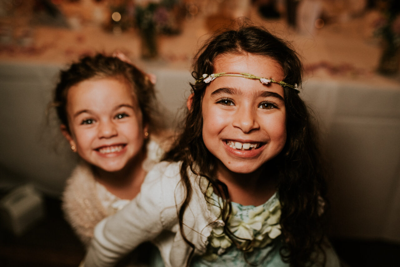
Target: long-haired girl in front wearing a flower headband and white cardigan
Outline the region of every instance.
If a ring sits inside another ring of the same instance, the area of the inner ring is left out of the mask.
[[[339,266],[301,70],[264,29],[210,39],[181,135],[136,199],[96,227],[85,266],[112,266],[149,240],[173,267]]]

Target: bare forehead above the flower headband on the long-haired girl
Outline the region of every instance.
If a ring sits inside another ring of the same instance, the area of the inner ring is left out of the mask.
[[[260,77],[284,80],[280,64],[267,56],[256,54],[221,54],[214,59],[214,73],[250,73]]]

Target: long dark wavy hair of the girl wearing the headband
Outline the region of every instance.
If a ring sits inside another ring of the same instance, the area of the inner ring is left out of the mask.
[[[270,34],[263,28],[240,26],[227,30],[211,38],[196,55],[194,78],[203,73],[214,73],[214,60],[221,54],[254,54],[276,60],[282,66],[284,81],[288,84],[302,81],[302,64],[290,45]],[[183,131],[165,160],[182,161],[180,175],[186,185],[186,199],[179,210],[182,235],[183,214],[188,206],[192,188],[187,169],[208,179],[211,186],[225,200],[221,208],[225,222],[225,233],[235,242],[229,231],[228,219],[231,201],[226,185],[215,177],[216,159],[208,151],[202,139],[202,98],[208,84],[190,84],[193,100],[187,114]],[[298,92],[284,87],[286,106],[287,140],[281,153],[265,163],[268,171],[278,177],[278,197],[282,206],[280,225],[283,246],[280,255],[291,266],[307,266],[318,263],[324,265],[325,253],[322,249],[324,231],[320,216],[321,202],[325,201],[326,183],[320,163],[316,132],[312,117]],[[186,242],[194,248],[188,240]],[[192,254],[194,251],[192,251]],[[324,257],[321,257],[323,255]]]

